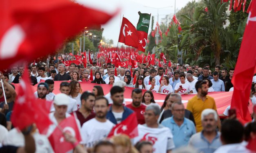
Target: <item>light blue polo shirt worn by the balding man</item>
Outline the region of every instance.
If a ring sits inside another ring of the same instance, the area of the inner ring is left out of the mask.
[[[171,130],[171,133],[174,136],[174,144],[175,149],[179,148],[180,146],[187,146],[189,143],[190,137],[196,133],[196,128],[194,123],[184,118],[184,122],[180,127],[174,121],[173,116],[170,118],[166,118],[161,122],[161,125],[168,127]]]

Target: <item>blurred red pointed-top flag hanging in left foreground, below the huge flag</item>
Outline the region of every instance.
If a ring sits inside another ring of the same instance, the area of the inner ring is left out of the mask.
[[[27,72],[27,69],[24,72]],[[23,74],[18,91],[11,115],[12,124],[22,130],[32,123],[36,123],[40,133],[45,134],[47,127],[51,124],[48,117],[50,110],[47,108],[46,101],[36,100],[34,94],[27,94],[33,93],[27,73]]]

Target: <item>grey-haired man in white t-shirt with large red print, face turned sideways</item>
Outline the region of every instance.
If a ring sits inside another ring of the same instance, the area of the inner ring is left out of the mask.
[[[146,124],[138,125],[138,136],[134,138],[134,144],[143,139],[152,142],[155,153],[171,153],[175,148],[173,135],[169,128],[158,124],[159,115],[157,104],[147,106],[144,113]]]

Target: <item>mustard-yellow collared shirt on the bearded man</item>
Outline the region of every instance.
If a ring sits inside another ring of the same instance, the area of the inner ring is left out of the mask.
[[[214,109],[217,111],[214,98],[208,95],[206,96],[205,101],[198,98],[198,96],[196,95],[193,98],[189,99],[187,103],[187,110],[191,111],[196,121],[197,132],[200,132],[203,130],[202,122],[201,122],[201,113],[203,110],[207,108]]]

